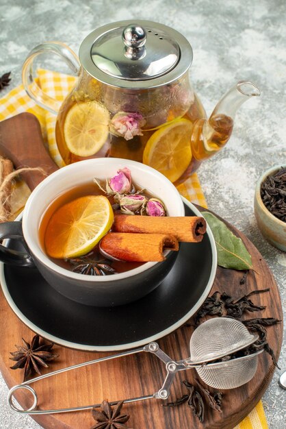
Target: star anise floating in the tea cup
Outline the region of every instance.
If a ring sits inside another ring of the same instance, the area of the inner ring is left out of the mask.
[[[116,274],[109,260],[99,258],[97,255],[94,255],[94,253],[81,256],[81,258],[68,259],[68,262],[73,266],[72,271],[74,273],[86,275]]]

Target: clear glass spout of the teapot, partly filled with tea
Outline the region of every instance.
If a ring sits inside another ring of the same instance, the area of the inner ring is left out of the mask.
[[[233,132],[238,108],[251,97],[259,95],[260,90],[255,84],[239,81],[220,99],[209,119],[196,121],[191,138],[194,158],[201,161],[222,149]]]

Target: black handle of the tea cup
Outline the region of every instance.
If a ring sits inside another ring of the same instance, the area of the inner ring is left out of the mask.
[[[0,223],[0,240],[4,240],[5,238],[16,238],[16,240],[20,240],[26,251],[20,252],[0,244],[0,260],[8,265],[34,268],[34,260],[29,253],[23,236],[22,222],[14,221]]]

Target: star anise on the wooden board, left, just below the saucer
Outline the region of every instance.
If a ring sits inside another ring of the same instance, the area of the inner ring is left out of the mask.
[[[11,360],[16,360],[17,363],[10,367],[11,369],[24,368],[24,380],[28,380],[28,378],[33,373],[40,373],[39,367],[47,368],[48,365],[46,361],[53,360],[59,356],[58,354],[54,354],[51,352],[53,348],[53,343],[44,343],[41,341],[41,337],[39,335],[35,335],[31,340],[31,344],[27,343],[27,341],[23,340],[24,345],[15,345],[18,349],[16,352],[10,352],[12,354]]]

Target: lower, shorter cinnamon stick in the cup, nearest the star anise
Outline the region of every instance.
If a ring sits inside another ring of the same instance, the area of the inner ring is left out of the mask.
[[[129,262],[164,260],[164,250],[179,250],[177,239],[168,234],[131,234],[109,232],[101,240],[101,251]]]

